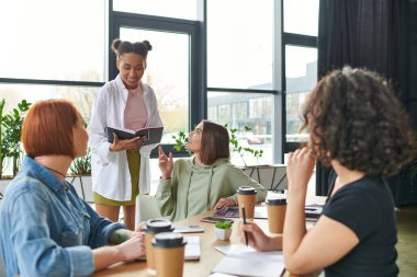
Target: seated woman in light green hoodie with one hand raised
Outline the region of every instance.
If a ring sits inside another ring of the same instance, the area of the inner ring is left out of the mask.
[[[237,205],[239,186],[257,189],[257,201],[267,197],[267,188],[229,161],[229,136],[222,125],[203,120],[189,135],[185,148],[192,159],[172,161],[159,147],[159,181],[156,199],[162,216],[178,221],[213,208]]]

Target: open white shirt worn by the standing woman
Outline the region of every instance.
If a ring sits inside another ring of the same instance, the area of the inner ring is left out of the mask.
[[[158,103],[154,90],[143,84],[144,102],[148,109],[146,127],[160,127]],[[92,191],[105,198],[128,201],[132,199],[132,181],[126,151],[110,151],[105,128],[124,126],[124,109],[128,91],[120,76],[101,88],[94,99],[88,125],[91,148]],[[139,194],[150,191],[149,154],[157,145],[140,147]]]

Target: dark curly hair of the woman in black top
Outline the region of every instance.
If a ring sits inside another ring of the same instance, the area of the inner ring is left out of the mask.
[[[369,175],[396,173],[414,158],[409,119],[377,73],[343,67],[325,76],[303,107],[318,159]]]

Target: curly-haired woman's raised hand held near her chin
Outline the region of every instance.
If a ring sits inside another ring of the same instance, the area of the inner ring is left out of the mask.
[[[286,176],[289,178],[289,189],[307,189],[307,184],[312,177],[316,155],[308,147],[289,153],[286,165]]]

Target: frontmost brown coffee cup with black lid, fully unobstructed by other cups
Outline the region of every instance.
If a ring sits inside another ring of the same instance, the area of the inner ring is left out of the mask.
[[[181,277],[185,243],[181,233],[164,232],[153,240],[155,268],[158,277]]]

